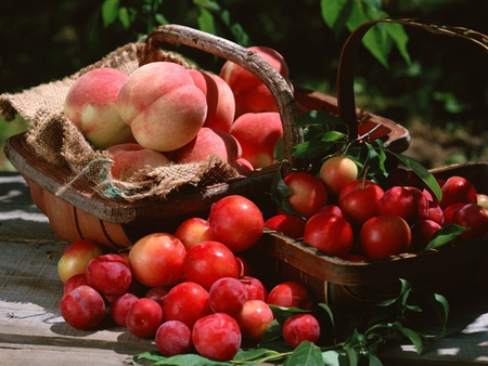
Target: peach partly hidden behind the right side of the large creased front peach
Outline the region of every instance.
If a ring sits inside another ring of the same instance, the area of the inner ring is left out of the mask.
[[[234,120],[235,101],[229,84],[218,75],[189,70],[195,86],[207,99],[207,118],[204,126],[229,132]]]

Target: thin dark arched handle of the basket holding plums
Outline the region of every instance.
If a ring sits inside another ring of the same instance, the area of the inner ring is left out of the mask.
[[[420,18],[386,17],[370,21],[358,26],[346,39],[341,51],[337,68],[337,106],[338,116],[349,126],[349,136],[358,135],[356,103],[354,92],[354,69],[362,37],[378,23],[395,23],[423,28],[434,34],[464,38],[488,50],[488,36],[463,27],[446,26],[433,21]]]

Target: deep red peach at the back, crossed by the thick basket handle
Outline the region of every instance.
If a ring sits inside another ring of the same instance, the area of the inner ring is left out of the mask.
[[[267,47],[251,47],[248,50],[259,54],[292,87],[288,66],[279,52]],[[219,76],[226,80],[234,93],[235,117],[249,112],[278,112],[277,102],[268,87],[243,67],[227,61],[220,69]]]

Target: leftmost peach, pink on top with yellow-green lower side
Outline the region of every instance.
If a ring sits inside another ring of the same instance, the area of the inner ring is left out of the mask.
[[[97,68],[78,78],[66,94],[64,115],[97,148],[134,142],[117,109],[118,93],[126,80],[127,75],[120,70]]]

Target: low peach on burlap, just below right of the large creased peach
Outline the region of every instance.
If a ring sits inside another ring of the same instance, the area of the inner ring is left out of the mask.
[[[241,157],[242,151],[237,140],[224,131],[202,127],[190,143],[171,152],[175,162],[196,162],[207,159],[210,154],[219,156],[226,162],[233,162]]]

